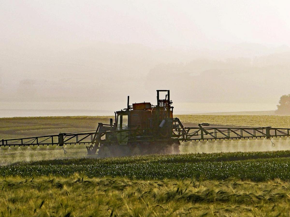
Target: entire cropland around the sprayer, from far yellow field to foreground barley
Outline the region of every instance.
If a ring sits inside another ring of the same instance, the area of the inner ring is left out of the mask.
[[[290,126],[289,116],[178,117],[185,126]],[[1,118],[0,139],[93,130],[109,118]],[[184,143],[187,154],[107,159],[86,158],[83,145],[66,146],[67,155],[57,146],[1,148],[1,216],[288,216],[290,141],[276,142]]]

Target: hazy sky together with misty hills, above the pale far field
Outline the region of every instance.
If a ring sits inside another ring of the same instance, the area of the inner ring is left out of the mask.
[[[0,101],[277,103],[289,1],[0,1]]]

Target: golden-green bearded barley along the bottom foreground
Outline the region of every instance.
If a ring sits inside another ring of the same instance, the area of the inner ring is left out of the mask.
[[[290,184],[40,176],[0,179],[1,216],[280,216]],[[286,216],[286,215],[285,215]]]

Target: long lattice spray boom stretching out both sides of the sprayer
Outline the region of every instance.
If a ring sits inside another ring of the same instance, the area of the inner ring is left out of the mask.
[[[102,124],[109,126],[106,124]],[[99,127],[98,127],[99,129]],[[28,137],[20,139],[2,139],[1,146],[44,146],[44,145],[76,145],[76,144],[96,144],[99,142],[107,142],[104,137],[111,136],[112,133],[123,133],[122,139],[128,140],[130,133],[132,141],[156,141],[153,132],[149,132],[148,136],[139,138],[141,132],[137,130],[122,130],[122,131],[105,131],[100,132],[86,131],[78,133],[60,133],[58,135],[48,135],[39,137]],[[143,132],[144,133],[144,132]],[[222,139],[246,139],[246,138],[267,138],[272,137],[289,137],[290,128],[271,128],[271,127],[247,127],[247,126],[221,126],[210,124],[199,124],[198,127],[183,127],[178,118],[173,119],[172,139],[178,141],[204,141],[204,140],[222,140]],[[101,139],[100,139],[101,138]],[[97,141],[98,140],[98,141]],[[160,140],[161,141],[161,140]],[[122,141],[121,141],[122,142]]]

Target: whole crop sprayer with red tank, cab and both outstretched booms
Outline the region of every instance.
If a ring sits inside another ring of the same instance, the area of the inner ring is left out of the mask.
[[[160,96],[162,99],[160,98]],[[208,123],[184,127],[173,117],[169,90],[157,90],[157,104],[129,104],[115,112],[115,122],[99,123],[97,130],[57,135],[2,139],[1,146],[39,146],[84,144],[88,155],[98,157],[179,153],[180,141],[208,141],[289,137],[290,128],[222,126]],[[272,141],[271,141],[272,142]],[[274,143],[272,142],[273,146]],[[64,148],[64,147],[63,147]],[[65,151],[66,153],[66,151]]]

